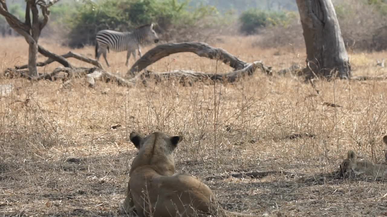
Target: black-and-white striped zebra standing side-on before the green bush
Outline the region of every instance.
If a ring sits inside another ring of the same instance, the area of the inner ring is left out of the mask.
[[[122,52],[128,51],[126,56],[126,66],[129,66],[130,54],[133,54],[136,59],[136,49],[139,50],[139,56],[141,58],[140,44],[144,43],[146,39],[154,40],[155,43],[159,42],[159,37],[153,30],[154,24],[146,24],[137,27],[133,32],[118,32],[113,30],[104,29],[96,34],[96,47],[95,55],[98,61],[99,56],[103,54],[103,58],[106,61],[108,67],[110,67],[108,60],[106,59],[106,50],[109,49]]]

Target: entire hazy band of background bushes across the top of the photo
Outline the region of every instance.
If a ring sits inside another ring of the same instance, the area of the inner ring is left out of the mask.
[[[24,21],[24,0],[7,0]],[[333,0],[347,48],[387,49],[386,0]],[[259,9],[257,9],[259,8]],[[305,46],[293,0],[62,0],[50,8],[42,37],[64,45],[95,44],[101,29],[130,31],[158,23],[163,41],[212,42],[215,35],[257,34],[255,46]],[[17,35],[0,16],[0,36]]]

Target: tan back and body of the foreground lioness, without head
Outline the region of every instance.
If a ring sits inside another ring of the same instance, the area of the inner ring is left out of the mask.
[[[129,185],[132,198],[144,198],[134,199],[137,213],[152,212],[153,216],[194,216],[197,212],[211,213],[209,205],[215,200],[211,189],[192,176],[161,176],[146,166],[132,173]],[[142,188],[139,188],[140,186]],[[147,203],[144,203],[145,201]],[[149,206],[150,204],[152,206]]]

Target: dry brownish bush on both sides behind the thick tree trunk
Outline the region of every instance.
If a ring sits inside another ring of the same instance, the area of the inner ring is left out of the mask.
[[[387,1],[333,0],[341,34],[347,49],[382,51],[387,49]],[[298,13],[298,12],[295,12]],[[253,44],[264,48],[305,46],[299,15],[287,24],[260,29],[260,37]]]

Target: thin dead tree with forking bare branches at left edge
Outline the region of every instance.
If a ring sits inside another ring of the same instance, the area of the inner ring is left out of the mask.
[[[29,45],[28,49],[28,70],[30,77],[38,76],[36,69],[36,54],[39,52],[46,57],[54,59],[65,67],[72,67],[63,57],[47,51],[43,47],[38,45],[40,33],[48,22],[48,16],[50,15],[49,7],[57,3],[59,0],[50,0],[45,2],[44,0],[26,0],[26,17],[25,21],[22,22],[8,11],[7,3],[5,0],[0,0],[0,14],[5,17],[8,24],[17,33],[21,34]],[[43,19],[39,20],[39,9]],[[31,19],[32,14],[32,19]]]

